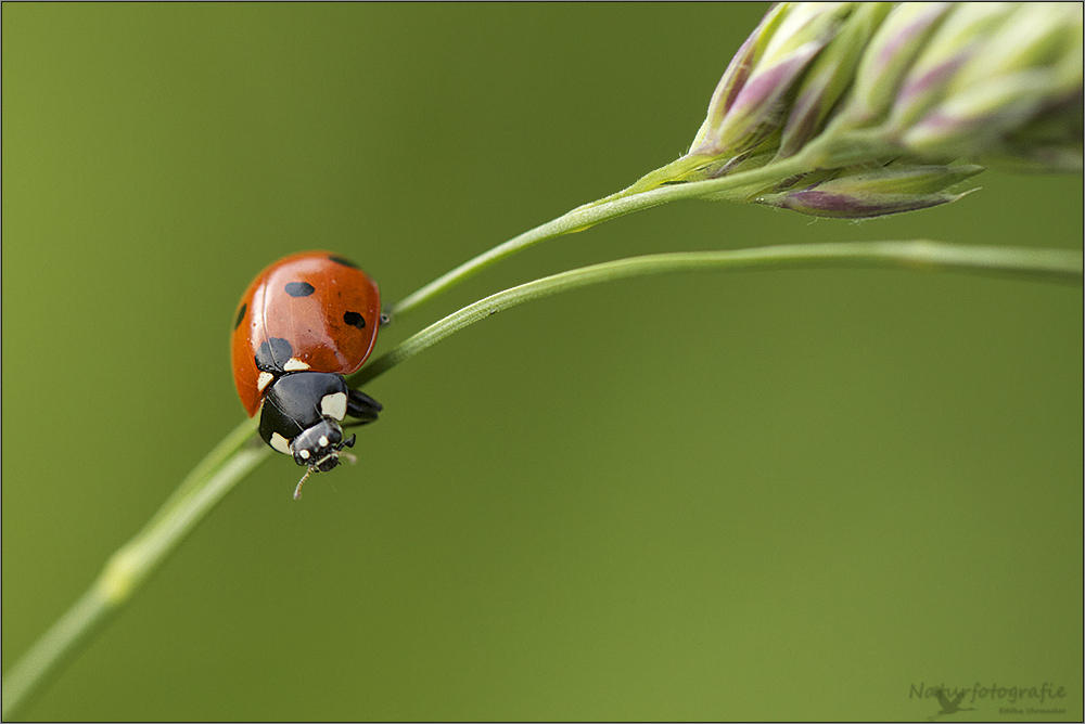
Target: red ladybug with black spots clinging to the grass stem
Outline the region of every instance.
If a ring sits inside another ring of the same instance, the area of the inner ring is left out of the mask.
[[[381,325],[376,282],[330,251],[280,259],[248,285],[233,318],[233,382],[245,412],[260,413],[260,437],[311,473],[352,461],[343,427],[376,419],[381,403],[350,389]],[[347,423],[344,419],[350,417]]]

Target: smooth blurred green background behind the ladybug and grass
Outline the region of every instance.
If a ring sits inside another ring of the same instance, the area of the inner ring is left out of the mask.
[[[624,188],[682,153],[764,11],[4,3],[4,671],[242,419],[229,324],[261,267],[335,249],[391,301]],[[1081,177],[975,182],[865,223],[625,217],[376,353],[637,254],[1081,243]],[[370,385],[360,464],[303,502],[265,463],[26,715],[893,720],[937,710],[921,685],[1047,682],[1080,719],[1082,308],[857,270],[519,307]]]

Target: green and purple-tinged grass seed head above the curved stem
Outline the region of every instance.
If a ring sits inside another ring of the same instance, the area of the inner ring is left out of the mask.
[[[702,197],[865,218],[960,198],[945,189],[982,170],[961,163],[1080,172],[1082,17],[1081,3],[776,4],[689,152],[623,194],[735,177]]]

